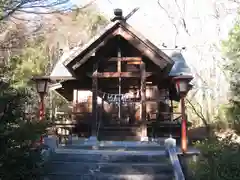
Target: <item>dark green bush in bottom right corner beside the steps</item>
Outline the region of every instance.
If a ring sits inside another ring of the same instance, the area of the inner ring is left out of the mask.
[[[230,137],[223,140],[211,139],[198,142],[196,147],[201,155],[192,163],[196,180],[239,180],[240,145],[233,143]]]

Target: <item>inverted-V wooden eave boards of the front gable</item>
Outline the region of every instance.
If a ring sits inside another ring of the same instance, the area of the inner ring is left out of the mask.
[[[109,24],[102,33],[92,38],[85,46],[73,49],[63,64],[70,72],[73,72],[87,62],[109,39],[117,35],[126,39],[161,69],[165,69],[167,72],[171,70],[174,61],[124,21],[115,21]]]

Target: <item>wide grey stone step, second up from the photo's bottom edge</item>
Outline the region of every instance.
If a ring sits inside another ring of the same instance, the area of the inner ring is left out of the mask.
[[[172,174],[170,163],[83,163],[52,161],[46,164],[47,173],[112,173],[112,174]]]

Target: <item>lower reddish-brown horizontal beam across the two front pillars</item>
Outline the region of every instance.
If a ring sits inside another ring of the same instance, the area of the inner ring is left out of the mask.
[[[89,77],[98,78],[140,78],[141,74],[139,72],[102,72],[102,73],[87,73]],[[146,72],[146,77],[153,75],[152,72]]]

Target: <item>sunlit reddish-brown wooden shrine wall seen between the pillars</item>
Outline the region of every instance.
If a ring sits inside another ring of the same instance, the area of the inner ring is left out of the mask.
[[[158,111],[166,112],[168,111],[168,104],[166,104],[165,97],[167,96],[166,90],[158,90],[156,86],[147,86],[146,90],[146,99],[149,100],[146,103],[147,115],[150,118],[157,118]],[[154,100],[160,99],[159,103],[154,102]],[[113,123],[114,117],[117,116],[118,108],[112,104],[104,101],[103,108],[101,107],[102,99],[98,97],[98,112],[105,113],[105,121],[108,119],[109,123]],[[91,91],[73,91],[73,118],[77,121],[87,121],[87,117],[89,117],[92,113],[92,92]],[[82,115],[81,115],[82,114]],[[85,114],[84,117],[83,114]],[[135,120],[132,121],[140,121],[140,102],[136,102],[134,104],[127,105],[127,107],[122,108],[123,116],[131,116],[134,117]],[[128,114],[128,115],[127,115]],[[98,116],[101,117],[101,116]],[[103,116],[102,116],[103,117]]]

